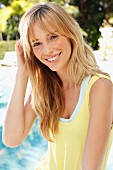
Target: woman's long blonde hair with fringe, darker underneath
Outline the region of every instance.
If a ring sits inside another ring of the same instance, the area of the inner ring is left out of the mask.
[[[87,75],[95,75],[102,71],[97,66],[92,49],[83,39],[79,24],[58,4],[53,2],[37,4],[23,15],[19,31],[32,84],[32,107],[39,116],[43,136],[53,141],[59,117],[64,111],[65,99],[62,81],[57,73],[42,64],[33,53],[30,35],[35,22],[49,32],[46,26],[48,23],[61,35],[70,39],[72,55],[68,69],[76,85]]]

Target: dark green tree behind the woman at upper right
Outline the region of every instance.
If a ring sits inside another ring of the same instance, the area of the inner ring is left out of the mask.
[[[72,3],[79,7],[80,15],[76,19],[85,32],[87,42],[98,49],[99,28],[105,18],[104,0],[72,0]]]

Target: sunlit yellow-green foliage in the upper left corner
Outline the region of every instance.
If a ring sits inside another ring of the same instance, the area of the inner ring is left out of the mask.
[[[33,5],[26,0],[13,0],[10,6],[0,9],[0,30],[8,40],[18,39],[18,24],[24,12]],[[2,18],[4,17],[3,21]],[[5,39],[5,38],[4,38]]]

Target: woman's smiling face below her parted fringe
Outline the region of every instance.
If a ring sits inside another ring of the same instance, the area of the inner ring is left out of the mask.
[[[71,43],[48,25],[50,33],[41,29],[37,23],[33,26],[34,39],[31,45],[35,56],[52,71],[66,71],[71,56]]]

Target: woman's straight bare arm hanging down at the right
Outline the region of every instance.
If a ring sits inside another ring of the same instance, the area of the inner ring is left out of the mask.
[[[91,88],[89,101],[91,113],[82,170],[101,170],[113,117],[112,83],[104,78],[97,80]]]

